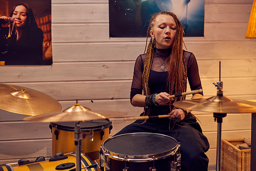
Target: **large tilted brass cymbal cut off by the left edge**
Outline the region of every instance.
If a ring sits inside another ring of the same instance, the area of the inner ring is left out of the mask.
[[[40,115],[61,111],[51,96],[22,86],[0,84],[0,109],[22,115]]]

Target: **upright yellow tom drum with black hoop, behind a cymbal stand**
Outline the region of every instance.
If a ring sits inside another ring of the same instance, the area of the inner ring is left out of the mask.
[[[74,140],[75,122],[58,122],[51,123],[52,130],[52,157],[57,153],[75,152]],[[90,130],[94,131],[93,141],[89,137],[81,140],[81,149],[92,161],[99,163],[100,145],[109,138],[112,130],[112,122],[109,119],[99,119],[92,121],[80,122],[80,131],[86,134]]]

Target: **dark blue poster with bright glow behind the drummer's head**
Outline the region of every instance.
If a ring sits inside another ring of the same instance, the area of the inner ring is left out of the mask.
[[[204,0],[109,0],[110,37],[146,37],[151,17],[174,12],[184,36],[204,36]]]

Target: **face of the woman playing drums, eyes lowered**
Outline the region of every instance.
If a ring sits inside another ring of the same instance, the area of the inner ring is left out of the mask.
[[[156,48],[167,49],[173,46],[177,25],[173,16],[159,15],[150,31],[152,38],[156,40]]]

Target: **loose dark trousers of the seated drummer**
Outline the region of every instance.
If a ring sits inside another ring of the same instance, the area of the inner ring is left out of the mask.
[[[166,112],[163,112],[166,114]],[[174,124],[169,119],[136,120],[125,126],[116,135],[127,133],[158,133],[175,138],[180,143],[181,170],[208,170],[209,159],[205,152],[209,149],[209,142],[202,134],[196,118],[187,115],[181,122]],[[171,130],[169,130],[169,127]],[[115,136],[116,136],[115,135]]]

